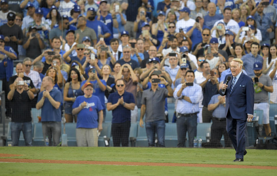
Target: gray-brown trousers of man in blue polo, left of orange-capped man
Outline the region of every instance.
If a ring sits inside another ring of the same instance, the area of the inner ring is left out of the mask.
[[[57,146],[61,138],[61,122],[42,122],[42,134],[44,140],[48,136],[49,146]]]

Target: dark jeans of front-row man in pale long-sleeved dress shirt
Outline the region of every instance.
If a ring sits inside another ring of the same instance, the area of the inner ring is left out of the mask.
[[[186,133],[188,131],[188,146],[193,147],[193,140],[197,130],[197,114],[177,118],[178,147],[186,147]]]

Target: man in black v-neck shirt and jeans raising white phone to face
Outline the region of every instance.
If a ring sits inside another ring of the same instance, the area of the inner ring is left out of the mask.
[[[18,146],[20,132],[23,132],[25,145],[32,145],[31,100],[34,94],[21,77],[13,83],[8,100],[12,104],[11,137],[13,146]]]

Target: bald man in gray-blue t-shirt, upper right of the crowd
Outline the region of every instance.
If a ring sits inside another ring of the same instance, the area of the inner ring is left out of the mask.
[[[216,21],[223,19],[222,14],[216,14],[216,5],[210,2],[207,7],[209,13],[204,16],[204,25],[208,26],[210,29],[213,28]]]

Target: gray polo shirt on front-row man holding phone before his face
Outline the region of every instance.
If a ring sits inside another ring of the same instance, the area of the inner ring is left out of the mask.
[[[145,122],[165,120],[164,104],[168,90],[158,87],[156,92],[151,88],[142,93],[141,104],[146,106]]]

